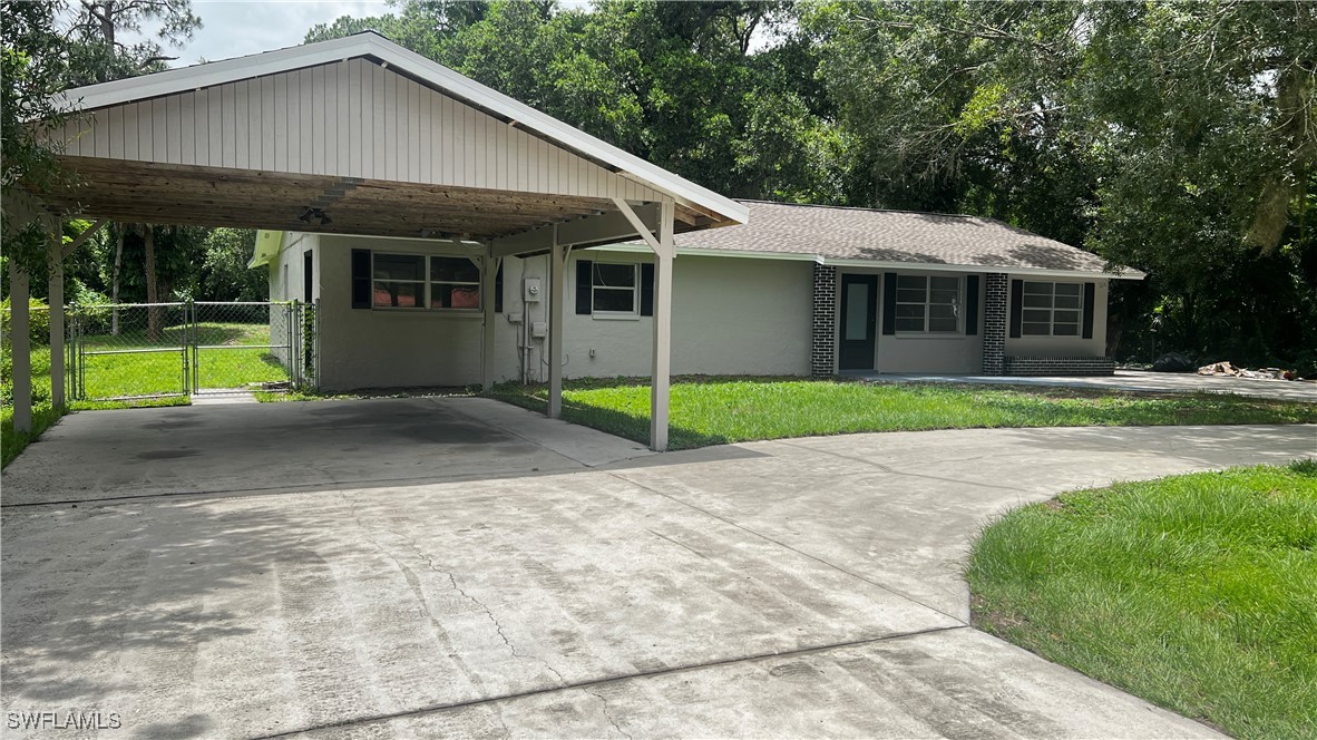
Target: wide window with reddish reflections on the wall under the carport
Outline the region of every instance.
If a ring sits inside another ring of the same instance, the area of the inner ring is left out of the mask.
[[[375,308],[481,307],[481,269],[466,257],[374,253],[370,274]]]

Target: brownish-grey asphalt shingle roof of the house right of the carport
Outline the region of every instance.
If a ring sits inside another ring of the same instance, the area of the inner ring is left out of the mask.
[[[743,200],[749,223],[674,237],[678,249],[814,254],[830,259],[1101,273],[1106,262],[977,216]]]

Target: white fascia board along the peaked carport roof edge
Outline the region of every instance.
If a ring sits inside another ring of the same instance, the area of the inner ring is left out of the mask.
[[[374,57],[381,62],[395,66],[403,72],[429,83],[436,90],[499,113],[523,129],[537,132],[568,149],[574,149],[586,157],[618,167],[631,179],[666,192],[680,203],[703,207],[739,224],[749,221],[748,205],[736,203],[730,198],[718,195],[706,187],[674,175],[662,167],[645,162],[502,92],[460,75],[437,62],[408,51],[375,33],[360,33],[345,38],[291,46],[288,49],[279,49],[278,51],[266,51],[237,59],[208,62],[205,65],[167,70],[138,78],[79,87],[57,95],[57,103],[66,105],[75,104],[83,109],[104,108],[107,105],[159,97],[162,95],[225,84],[241,79],[341,62],[356,57]]]

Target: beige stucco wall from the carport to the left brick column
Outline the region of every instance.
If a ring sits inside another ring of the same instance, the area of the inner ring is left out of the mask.
[[[353,309],[352,249],[454,254],[461,248],[407,240],[321,237],[321,387],[456,386],[481,379],[479,313]],[[302,246],[271,262],[271,288],[286,278],[300,291]],[[471,253],[466,253],[471,254]],[[637,263],[641,253],[582,250],[566,267],[565,342],[569,378],[648,375],[653,319],[576,313],[577,259]],[[523,278],[539,278],[548,298],[548,258],[503,261],[503,309],[494,316],[497,381],[519,381],[524,341],[528,377],[548,378],[547,342],[523,340],[523,328],[548,323],[548,300],[523,304]],[[673,278],[673,373],[807,375],[811,262],[678,257]],[[274,292],[271,292],[274,295]],[[594,357],[590,356],[594,350]]]

